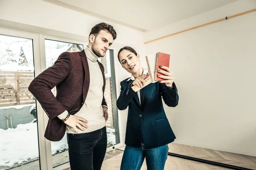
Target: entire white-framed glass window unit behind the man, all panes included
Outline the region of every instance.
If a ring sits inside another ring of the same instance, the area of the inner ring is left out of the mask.
[[[0,170],[60,170],[69,166],[66,135],[59,142],[44,138],[48,117],[28,86],[62,52],[83,49],[84,42],[0,28]],[[111,149],[120,143],[113,50],[99,60],[105,67],[106,126]],[[52,93],[56,94],[55,88]]]

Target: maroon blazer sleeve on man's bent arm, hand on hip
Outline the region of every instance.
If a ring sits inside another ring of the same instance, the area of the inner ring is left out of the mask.
[[[49,119],[66,111],[61,102],[52,94],[51,89],[69,75],[72,67],[70,55],[69,52],[62,53],[52,67],[39,74],[29,85],[29,91],[41,104]]]

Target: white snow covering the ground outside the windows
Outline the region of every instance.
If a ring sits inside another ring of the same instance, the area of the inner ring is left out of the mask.
[[[115,144],[115,130],[107,128],[108,143]],[[59,142],[52,142],[52,155],[68,149],[67,136]],[[37,123],[17,125],[8,130],[0,129],[0,167],[12,167],[14,164],[26,164],[38,159]]]

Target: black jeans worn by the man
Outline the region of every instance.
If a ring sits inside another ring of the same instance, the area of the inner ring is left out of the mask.
[[[106,127],[89,133],[67,133],[71,170],[100,170],[107,149]]]

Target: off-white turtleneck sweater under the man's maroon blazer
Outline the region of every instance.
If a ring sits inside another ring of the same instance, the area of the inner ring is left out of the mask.
[[[89,71],[90,71],[90,85],[89,85],[89,91],[86,96],[84,105],[82,108],[75,114],[75,116],[82,117],[88,121],[87,125],[88,128],[84,128],[85,131],[82,131],[78,128],[78,133],[88,133],[92,132],[98,129],[101,129],[106,125],[105,119],[103,116],[103,109],[102,109],[102,99],[103,99],[103,76],[102,71],[99,67],[99,64],[97,62],[97,59],[99,59],[98,56],[96,56],[93,51],[90,50],[86,46],[84,48],[88,65],[89,65]],[[58,118],[63,119],[65,116],[67,116],[67,111],[62,113],[58,116]],[[66,132],[67,133],[76,133],[75,129],[70,126],[66,126]]]

